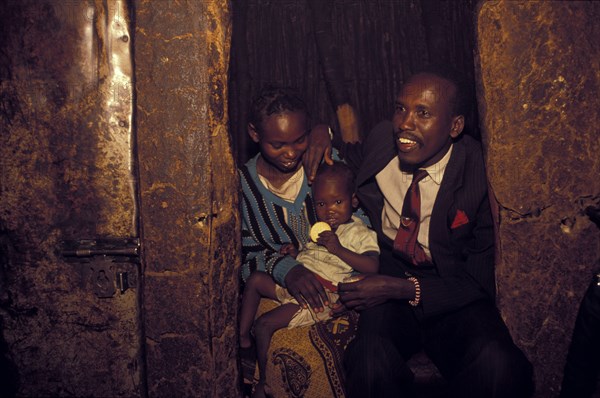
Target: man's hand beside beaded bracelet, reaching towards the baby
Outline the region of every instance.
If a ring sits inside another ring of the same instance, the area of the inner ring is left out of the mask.
[[[338,294],[346,308],[362,311],[390,299],[412,300],[414,283],[387,275],[367,274],[358,282],[338,284]]]

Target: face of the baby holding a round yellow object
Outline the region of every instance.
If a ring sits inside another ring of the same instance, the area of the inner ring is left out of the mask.
[[[335,231],[350,220],[357,199],[341,179],[333,176],[317,179],[312,191],[319,221],[326,222]]]

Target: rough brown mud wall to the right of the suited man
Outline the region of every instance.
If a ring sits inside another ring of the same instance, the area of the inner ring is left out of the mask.
[[[600,3],[483,2],[478,100],[499,210],[502,314],[556,396],[579,302],[600,268]]]

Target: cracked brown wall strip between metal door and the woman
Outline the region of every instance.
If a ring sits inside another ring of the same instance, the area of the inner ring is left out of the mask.
[[[239,219],[228,2],[136,1],[148,392],[235,397]]]

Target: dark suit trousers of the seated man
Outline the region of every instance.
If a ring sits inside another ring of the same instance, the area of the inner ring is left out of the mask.
[[[491,302],[419,321],[406,301],[388,301],[361,312],[344,359],[347,396],[410,396],[413,374],[406,361],[421,349],[447,380],[449,396],[533,394],[532,366]]]

